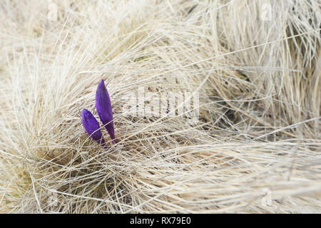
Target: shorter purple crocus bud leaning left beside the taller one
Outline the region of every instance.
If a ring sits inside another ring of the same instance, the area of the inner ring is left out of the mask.
[[[105,140],[103,140],[103,134],[101,134],[101,130],[99,129],[99,123],[93,114],[83,109],[81,119],[83,120],[83,128],[85,128],[88,135],[90,135],[93,140],[96,140],[96,142],[104,144]]]

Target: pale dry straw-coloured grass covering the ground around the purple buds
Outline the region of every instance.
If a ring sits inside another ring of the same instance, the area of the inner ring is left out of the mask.
[[[320,1],[4,0],[0,20],[0,212],[321,212]],[[101,79],[107,148],[80,115]],[[198,121],[126,113],[142,86],[197,93]]]

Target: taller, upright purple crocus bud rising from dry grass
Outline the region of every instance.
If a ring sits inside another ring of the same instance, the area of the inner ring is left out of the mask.
[[[111,98],[109,98],[103,80],[98,85],[96,90],[96,110],[103,125],[111,136],[113,144],[115,144],[115,133],[113,129],[113,110],[111,108]]]

